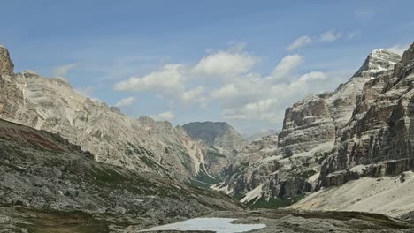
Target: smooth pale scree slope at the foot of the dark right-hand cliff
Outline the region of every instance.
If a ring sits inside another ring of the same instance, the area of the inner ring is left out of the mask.
[[[414,173],[400,177],[364,177],[330,187],[296,203],[292,208],[363,211],[398,217],[414,209]]]

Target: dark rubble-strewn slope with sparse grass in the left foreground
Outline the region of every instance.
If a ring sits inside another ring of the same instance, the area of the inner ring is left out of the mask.
[[[0,120],[0,181],[0,207],[165,220],[242,209],[224,194],[96,162],[67,139],[4,120]]]

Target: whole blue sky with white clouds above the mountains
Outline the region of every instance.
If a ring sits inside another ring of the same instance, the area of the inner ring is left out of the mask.
[[[276,129],[372,49],[414,42],[414,2],[2,1],[15,71],[64,77],[128,116]]]

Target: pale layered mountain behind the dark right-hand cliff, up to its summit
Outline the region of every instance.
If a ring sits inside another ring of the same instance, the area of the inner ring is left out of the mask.
[[[254,159],[244,163],[247,164],[244,168],[242,162],[234,160],[226,168],[229,177],[215,188],[244,195],[244,202],[288,199],[312,191],[317,186],[322,164],[322,174],[326,174],[326,158],[336,152],[341,138],[349,134],[354,109],[362,108],[357,101],[361,100],[358,96],[364,92],[364,85],[393,72],[400,59],[385,49],[373,50],[353,77],[334,92],[312,94],[286,109],[277,145],[261,148],[260,154],[251,153]],[[338,167],[330,170],[336,171]]]

